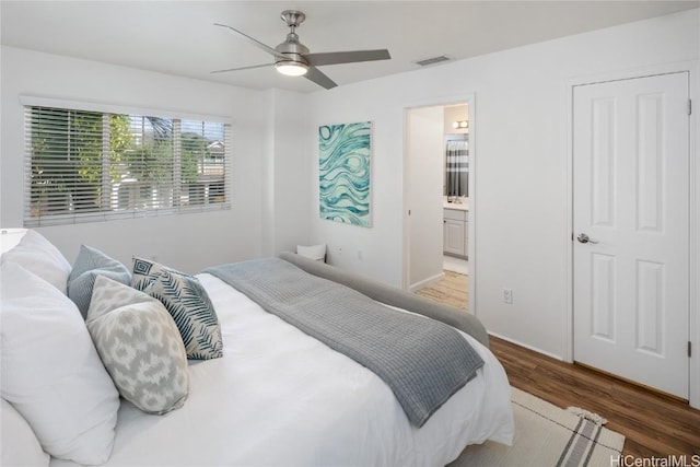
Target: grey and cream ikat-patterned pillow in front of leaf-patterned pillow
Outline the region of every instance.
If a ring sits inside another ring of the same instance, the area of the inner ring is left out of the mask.
[[[121,397],[148,413],[183,407],[189,393],[187,355],[162,303],[97,276],[85,324]]]

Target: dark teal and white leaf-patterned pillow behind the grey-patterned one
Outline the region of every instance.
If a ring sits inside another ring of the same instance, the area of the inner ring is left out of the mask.
[[[196,277],[135,258],[131,285],[165,305],[177,325],[188,359],[210,360],[223,355],[217,312]]]

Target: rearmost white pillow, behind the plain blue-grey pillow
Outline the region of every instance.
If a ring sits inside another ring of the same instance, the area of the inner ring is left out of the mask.
[[[66,294],[70,262],[40,233],[27,231],[14,248],[2,254],[2,261],[16,262]]]

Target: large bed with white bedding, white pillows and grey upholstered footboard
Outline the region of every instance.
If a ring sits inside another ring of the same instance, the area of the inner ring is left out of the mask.
[[[464,312],[299,255],[282,254],[271,261],[349,287],[402,315],[425,323],[440,319],[468,342],[483,364],[418,425],[375,372],[202,272],[190,280],[215,310],[221,346],[209,350],[219,354],[188,359],[186,395],[175,394],[172,407],[154,415],[110,385],[114,380],[118,386],[117,378],[105,371],[109,364],[95,350],[100,339],[93,334],[91,340],[86,329],[103,295],[118,295],[108,288],[101,295],[97,287],[117,287],[116,281],[97,275],[85,322],[79,307],[63,300],[79,258],[71,265],[35,231],[8,231],[2,247],[3,465],[14,459],[54,467],[432,466],[448,464],[469,444],[512,442],[508,378],[488,350],[483,327]],[[128,269],[133,280],[137,268]],[[59,314],[70,322],[66,332],[56,331],[63,326],[55,323]],[[70,337],[61,340],[65,335]],[[63,369],[75,361],[74,367]],[[23,370],[28,365],[35,367]],[[56,387],[36,395],[49,384],[37,376],[44,371]],[[68,383],[57,374],[61,371],[70,375]]]

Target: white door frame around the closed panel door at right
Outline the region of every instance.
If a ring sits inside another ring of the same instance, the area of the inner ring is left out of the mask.
[[[692,346],[692,357],[689,363],[689,402],[693,408],[700,408],[700,162],[698,155],[698,135],[700,135],[700,61],[684,61],[643,67],[627,71],[598,73],[594,75],[578,77],[568,80],[562,86],[563,102],[565,103],[562,118],[567,122],[567,148],[564,159],[564,187],[565,187],[565,215],[562,229],[565,235],[564,270],[567,291],[564,293],[562,319],[562,334],[564,342],[564,360],[573,362],[573,91],[574,86],[595,84],[607,81],[621,81],[634,78],[651,77],[688,72],[689,97],[693,102],[693,110],[689,119],[689,157],[690,157],[690,296],[689,296],[689,340]]]

